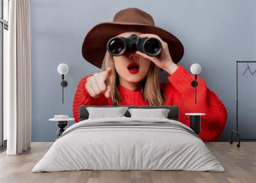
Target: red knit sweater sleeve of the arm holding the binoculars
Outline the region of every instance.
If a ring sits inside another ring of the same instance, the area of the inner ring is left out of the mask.
[[[197,77],[198,86],[196,86],[196,104],[195,104],[195,88],[191,86],[191,82],[195,76],[190,74],[184,67],[179,65],[172,75],[168,76],[168,80],[175,90],[182,97],[180,106],[182,106],[183,114],[185,113],[205,113],[201,116],[201,132],[200,138],[204,141],[212,141],[217,139],[225,127],[227,122],[227,109],[217,97],[217,95],[207,88],[202,77]],[[189,124],[189,116],[183,116],[185,122]]]

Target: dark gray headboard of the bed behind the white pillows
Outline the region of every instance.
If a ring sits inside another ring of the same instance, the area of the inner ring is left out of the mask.
[[[87,120],[89,113],[86,107],[124,107],[124,106],[80,106],[79,107],[79,121]],[[167,118],[170,120],[177,120],[179,119],[179,107],[178,106],[125,106],[129,108],[141,108],[141,109],[170,109]],[[131,114],[127,110],[124,114],[126,117],[131,117]]]

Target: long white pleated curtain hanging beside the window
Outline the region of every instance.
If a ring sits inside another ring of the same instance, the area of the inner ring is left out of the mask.
[[[29,0],[10,0],[8,60],[4,63],[4,115],[8,155],[31,145],[31,38]]]

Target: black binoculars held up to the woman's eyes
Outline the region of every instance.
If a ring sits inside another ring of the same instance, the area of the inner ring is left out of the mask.
[[[137,35],[131,35],[127,38],[115,36],[109,39],[107,50],[113,56],[136,51],[143,52],[148,56],[159,56],[162,51],[162,44],[157,38],[141,38]]]

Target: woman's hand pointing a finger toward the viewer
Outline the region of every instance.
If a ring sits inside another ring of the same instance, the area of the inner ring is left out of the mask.
[[[106,98],[111,95],[111,82],[110,76],[112,75],[112,69],[107,68],[103,72],[98,72],[87,78],[85,88],[88,93],[93,97],[97,98],[100,94],[104,93]]]

